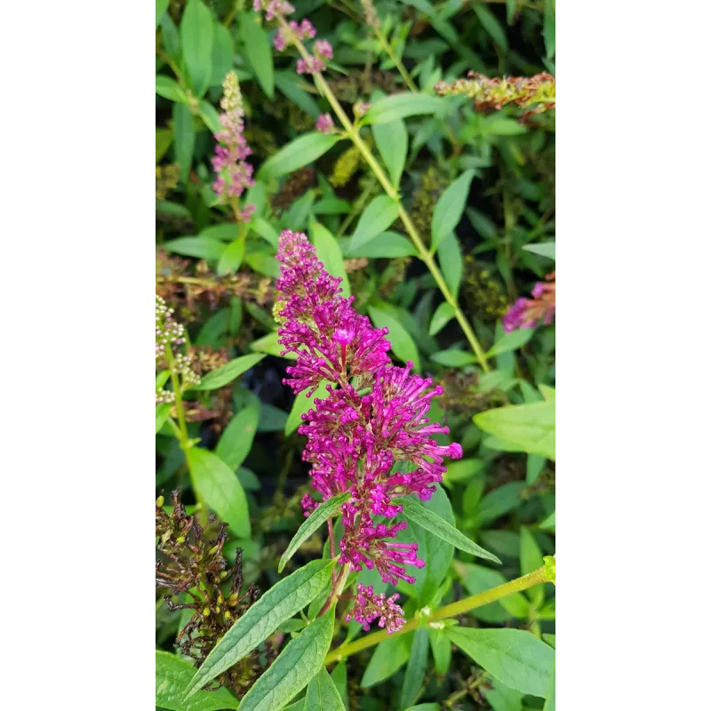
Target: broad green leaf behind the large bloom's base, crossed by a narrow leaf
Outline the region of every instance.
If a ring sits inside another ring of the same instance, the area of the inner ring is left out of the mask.
[[[423,504],[432,513],[438,515],[446,523],[454,525],[454,514],[451,510],[450,499],[446,491],[440,484],[435,484],[435,493],[432,499]],[[421,571],[417,571],[414,585],[400,580],[397,587],[408,595],[417,597],[420,607],[430,602],[437,589],[442,585],[442,581],[450,570],[451,559],[454,555],[454,546],[449,542],[443,542],[434,533],[430,533],[426,528],[411,521],[404,531],[400,531],[397,539],[403,543],[417,543],[417,555],[427,565]]]

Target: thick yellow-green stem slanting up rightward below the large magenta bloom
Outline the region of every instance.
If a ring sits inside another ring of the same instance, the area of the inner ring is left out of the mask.
[[[540,585],[540,583],[545,582],[550,582],[550,579],[546,574],[546,566],[541,565],[537,571],[530,572],[528,575],[523,575],[521,578],[516,578],[515,580],[511,580],[510,582],[499,585],[498,587],[492,587],[491,590],[485,590],[483,593],[472,595],[471,597],[459,600],[456,603],[444,605],[444,607],[441,607],[439,610],[435,610],[429,617],[427,617],[427,624],[438,622],[441,619],[448,619],[463,615],[477,607],[493,603],[500,600],[502,597],[506,597],[512,593],[521,592],[529,587]],[[393,632],[392,634],[388,634],[386,630],[382,630],[380,632],[374,632],[372,635],[361,637],[355,642],[341,644],[340,647],[329,652],[324,663],[330,664],[334,661],[340,661],[341,659],[349,657],[351,654],[355,654],[357,651],[366,650],[368,647],[372,647],[374,644],[383,642],[386,639],[411,632],[411,630],[417,629],[419,625],[420,620],[415,617],[403,625],[402,629],[397,632]]]

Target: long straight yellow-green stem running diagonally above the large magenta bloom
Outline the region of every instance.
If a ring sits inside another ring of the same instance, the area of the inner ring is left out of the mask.
[[[288,26],[286,25],[284,18],[280,15],[278,17],[278,20],[282,28],[284,28],[288,32]],[[295,40],[295,44],[301,56],[306,60],[309,55],[304,45],[298,39]],[[386,192],[386,195],[389,196],[392,200],[395,200],[395,202],[397,203],[400,220],[402,220],[403,226],[407,234],[410,236],[412,242],[415,244],[415,247],[417,247],[417,251],[419,252],[419,259],[425,262],[427,269],[429,269],[432,276],[435,277],[435,282],[439,287],[440,292],[442,292],[444,300],[446,300],[447,303],[449,303],[451,308],[453,309],[454,316],[459,322],[459,325],[461,326],[461,330],[464,332],[464,335],[467,337],[469,345],[475,353],[476,359],[482,366],[482,370],[484,372],[489,372],[489,363],[486,362],[484,350],[481,344],[479,343],[479,340],[476,338],[474,329],[467,321],[467,316],[464,316],[464,312],[461,310],[461,308],[459,308],[457,299],[451,293],[449,287],[444,281],[442,272],[440,271],[439,267],[437,267],[437,263],[435,262],[434,255],[427,252],[427,246],[424,244],[422,238],[419,236],[417,228],[415,228],[415,226],[412,224],[410,215],[407,213],[407,211],[403,207],[403,204],[400,202],[400,195],[397,191],[397,188],[395,188],[395,186],[387,178],[387,175],[378,163],[378,160],[375,156],[373,156],[371,149],[368,148],[368,145],[360,137],[356,126],[354,126],[354,124],[348,118],[346,111],[340,105],[340,101],[335,97],[335,95],[331,91],[331,87],[328,85],[328,83],[324,79],[324,76],[320,72],[314,73],[314,82],[316,84],[316,88],[319,90],[319,92],[321,92],[322,96],[324,96],[324,98],[329,102],[329,104],[331,104],[333,112],[336,114],[336,116],[339,117],[339,121],[342,124],[345,132],[348,134],[348,138],[353,141],[353,144],[361,152],[363,158],[365,158],[366,163],[371,166],[372,172],[379,180],[380,185],[382,185],[383,189]]]

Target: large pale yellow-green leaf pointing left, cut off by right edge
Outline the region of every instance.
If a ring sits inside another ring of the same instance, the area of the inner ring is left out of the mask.
[[[557,398],[542,403],[507,405],[479,412],[476,427],[515,444],[523,451],[542,454],[555,461],[557,449]]]

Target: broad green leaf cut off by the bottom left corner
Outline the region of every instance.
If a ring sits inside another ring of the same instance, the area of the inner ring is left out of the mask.
[[[190,662],[156,650],[156,706],[170,711],[223,711],[239,707],[239,701],[224,687],[217,691],[198,691],[189,701],[183,700],[195,667]]]

